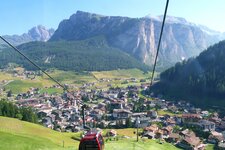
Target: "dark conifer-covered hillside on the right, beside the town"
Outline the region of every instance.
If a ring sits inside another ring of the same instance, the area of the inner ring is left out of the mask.
[[[225,106],[225,41],[219,42],[166,70],[151,90],[167,97],[186,99],[199,106]]]

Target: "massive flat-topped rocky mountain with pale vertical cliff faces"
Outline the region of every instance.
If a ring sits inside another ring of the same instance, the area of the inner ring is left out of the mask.
[[[152,65],[161,24],[162,16],[128,18],[78,11],[59,24],[50,41],[82,40],[104,35],[109,45]],[[177,61],[196,56],[223,38],[220,33],[210,31],[211,33],[208,33],[205,28],[183,18],[167,17],[158,65],[169,67]]]

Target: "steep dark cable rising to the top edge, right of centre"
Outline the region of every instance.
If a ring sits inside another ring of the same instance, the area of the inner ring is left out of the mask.
[[[166,7],[165,7],[164,15],[163,15],[163,22],[162,22],[161,31],[160,31],[160,36],[159,36],[159,42],[158,42],[158,46],[157,46],[157,52],[156,52],[155,61],[154,61],[154,65],[153,65],[153,70],[152,70],[152,77],[151,77],[150,87],[151,87],[152,84],[153,84],[154,73],[155,73],[155,67],[156,67],[156,62],[157,62],[157,58],[158,58],[158,54],[159,54],[159,48],[160,48],[160,44],[161,44],[161,39],[162,39],[162,34],[163,34],[164,24],[165,24],[165,20],[166,20],[166,13],[167,13],[168,5],[169,5],[169,0],[166,1]]]

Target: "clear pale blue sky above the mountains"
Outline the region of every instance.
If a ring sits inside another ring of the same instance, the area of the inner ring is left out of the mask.
[[[22,34],[42,24],[57,28],[77,10],[103,15],[162,15],[166,0],[1,0],[0,35]],[[170,0],[168,15],[225,31],[225,0]]]

